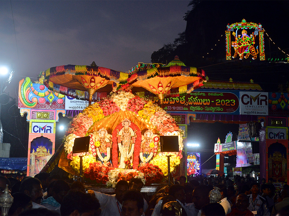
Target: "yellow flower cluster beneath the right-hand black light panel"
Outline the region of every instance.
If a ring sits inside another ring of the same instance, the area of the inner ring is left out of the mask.
[[[174,171],[177,165],[180,164],[181,160],[175,154],[171,154],[170,157],[170,170]],[[157,165],[161,170],[164,176],[168,175],[168,158],[165,155],[159,154],[153,158],[150,162],[153,165]]]

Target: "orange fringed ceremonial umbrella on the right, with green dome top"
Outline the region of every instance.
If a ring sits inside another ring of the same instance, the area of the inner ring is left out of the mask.
[[[178,56],[166,67],[156,67],[132,74],[127,82],[133,92],[149,91],[156,94],[163,104],[165,95],[190,93],[206,82],[205,71],[187,67]]]

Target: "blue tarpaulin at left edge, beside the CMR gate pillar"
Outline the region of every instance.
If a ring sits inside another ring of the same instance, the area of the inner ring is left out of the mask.
[[[27,158],[0,158],[0,169],[27,170]]]

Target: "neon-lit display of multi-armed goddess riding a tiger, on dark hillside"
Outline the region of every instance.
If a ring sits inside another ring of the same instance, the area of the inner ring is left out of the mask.
[[[260,60],[265,60],[264,53],[264,30],[262,25],[247,22],[245,19],[242,22],[236,22],[227,25],[226,35],[226,59],[232,58],[250,58],[255,60],[257,54]],[[232,47],[232,51],[231,51]],[[234,48],[234,55],[233,54]]]

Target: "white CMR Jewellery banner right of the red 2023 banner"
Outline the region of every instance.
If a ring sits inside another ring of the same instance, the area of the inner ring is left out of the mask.
[[[240,114],[268,115],[268,92],[240,92]]]

